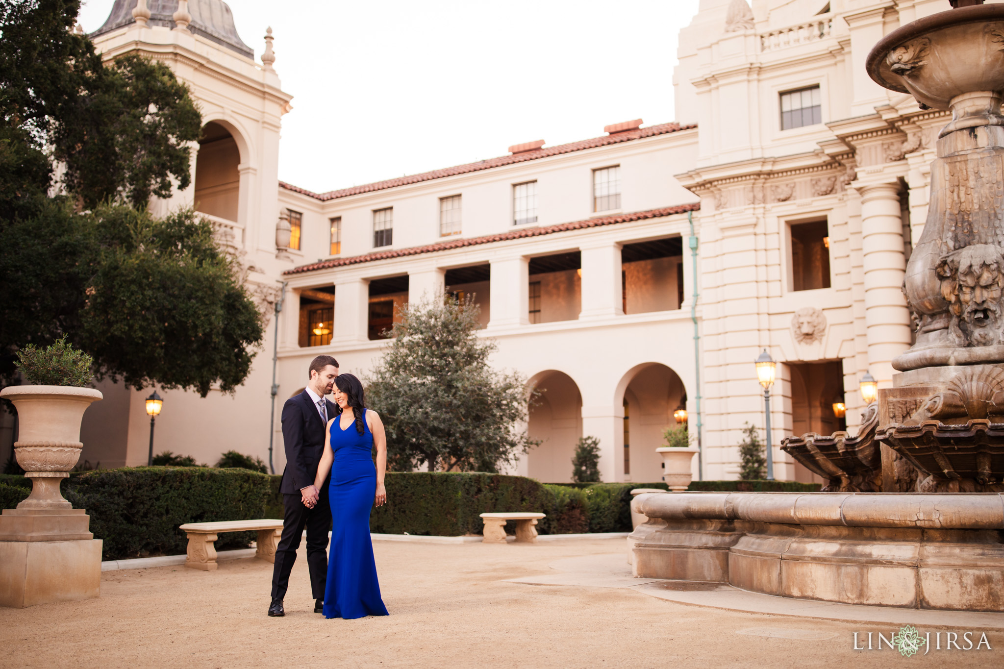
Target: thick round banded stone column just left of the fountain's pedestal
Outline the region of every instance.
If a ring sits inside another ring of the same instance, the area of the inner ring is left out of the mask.
[[[893,358],[911,343],[911,320],[903,295],[907,262],[903,252],[900,186],[862,184],[861,255],[864,269],[864,328],[868,371],[880,387],[893,385]]]

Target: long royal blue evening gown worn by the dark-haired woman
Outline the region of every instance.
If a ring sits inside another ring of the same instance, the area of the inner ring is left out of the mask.
[[[369,512],[376,494],[373,435],[362,412],[362,434],[355,421],[341,429],[341,417],[331,423],[331,548],[324,590],[325,618],[387,616],[380,596],[373,545],[369,539]]]

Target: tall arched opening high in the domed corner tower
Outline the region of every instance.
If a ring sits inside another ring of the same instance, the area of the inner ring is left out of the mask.
[[[241,152],[226,127],[210,121],[202,128],[195,161],[195,209],[227,221],[237,221]]]

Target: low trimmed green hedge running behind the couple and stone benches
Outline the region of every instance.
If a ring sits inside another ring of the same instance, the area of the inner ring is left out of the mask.
[[[90,530],[104,541],[103,559],[180,555],[187,539],[178,526],[206,521],[283,518],[281,475],[215,467],[126,467],[74,472],[63,494],[86,509]],[[542,512],[542,535],[630,532],[631,491],[668,489],[654,483],[540,483],[533,478],[478,472],[389,472],[387,505],[373,509],[370,531],[459,536],[481,534],[482,513]],[[702,491],[812,491],[818,483],[694,481]],[[13,509],[31,491],[24,476],[0,474],[0,508]],[[506,530],[514,534],[515,526]],[[245,547],[254,533],[220,536],[217,549]]]

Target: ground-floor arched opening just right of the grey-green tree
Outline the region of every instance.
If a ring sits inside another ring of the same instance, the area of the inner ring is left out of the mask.
[[[527,475],[545,483],[571,480],[571,458],[582,436],[582,395],[564,372],[547,370],[530,379],[541,391],[530,407],[528,432],[542,443],[527,454]]]

